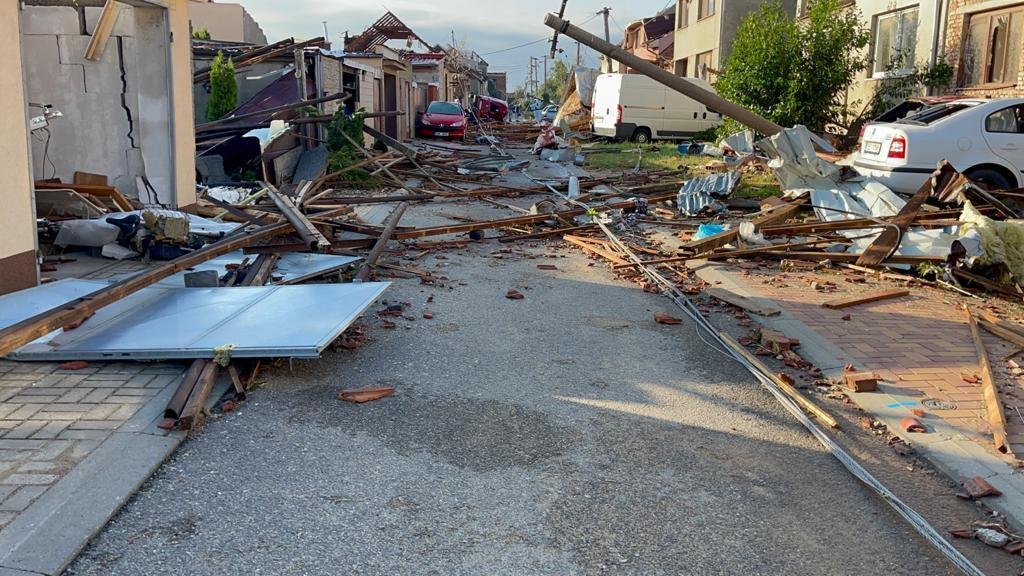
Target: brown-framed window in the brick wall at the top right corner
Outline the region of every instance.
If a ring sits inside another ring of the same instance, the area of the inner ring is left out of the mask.
[[[974,14],[964,43],[963,81],[968,86],[1016,84],[1024,41],[1024,9]]]

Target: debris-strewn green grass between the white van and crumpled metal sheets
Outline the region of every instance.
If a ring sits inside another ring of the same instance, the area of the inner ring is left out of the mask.
[[[637,165],[638,145],[630,142],[597,143],[586,149],[586,166],[595,170],[622,172]],[[715,159],[710,156],[681,156],[676,145],[664,143],[643,147],[642,170],[679,170],[687,168],[689,175],[699,177],[710,174],[706,166]],[[761,199],[780,194],[778,181],[771,172],[743,173],[736,198]]]

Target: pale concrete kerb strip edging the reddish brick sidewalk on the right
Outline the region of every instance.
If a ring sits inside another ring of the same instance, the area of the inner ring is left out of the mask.
[[[741,284],[719,270],[718,264],[707,260],[690,262],[701,280],[724,288],[740,296],[745,296],[759,304],[772,303],[755,289]],[[820,336],[813,329],[793,317],[783,306],[782,314],[766,318],[758,316],[762,325],[783,332],[786,336],[800,340],[800,355],[821,369],[824,377],[842,381],[847,364],[858,370],[867,370],[839,346]],[[1024,477],[1017,474],[1010,464],[993,454],[989,454],[978,443],[964,436],[941,418],[927,418],[928,434],[905,434],[899,422],[913,416],[907,402],[915,402],[914,397],[905,396],[899,387],[879,383],[873,393],[847,392],[850,399],[860,408],[881,420],[889,431],[914,447],[918,453],[952,480],[964,483],[980,476],[1002,492],[1002,496],[985,500],[985,504],[1007,516],[1018,527],[1024,527]]]

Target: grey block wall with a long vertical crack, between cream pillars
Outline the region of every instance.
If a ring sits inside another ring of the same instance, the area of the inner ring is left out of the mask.
[[[72,181],[75,171],[94,172],[143,203],[174,204],[166,12],[126,7],[102,57],[89,61],[84,54],[100,10],[27,6],[23,12],[29,101],[63,114],[51,122],[48,141],[46,134],[32,138],[33,176]]]

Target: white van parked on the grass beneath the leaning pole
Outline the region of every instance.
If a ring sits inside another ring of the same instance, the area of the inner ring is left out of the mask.
[[[687,78],[706,90],[711,84]],[[591,106],[594,133],[638,142],[692,136],[722,124],[722,115],[640,74],[602,74]]]

